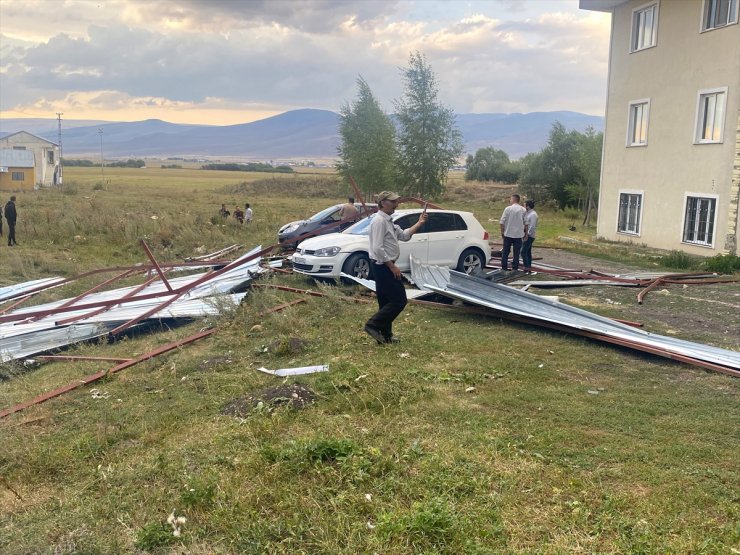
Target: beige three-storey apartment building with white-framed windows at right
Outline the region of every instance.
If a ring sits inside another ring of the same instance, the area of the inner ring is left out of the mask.
[[[580,0],[612,14],[598,234],[738,253],[738,0]]]

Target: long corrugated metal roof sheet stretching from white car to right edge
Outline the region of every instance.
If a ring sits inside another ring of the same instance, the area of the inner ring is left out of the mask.
[[[580,308],[460,272],[451,271],[450,281],[445,287],[432,284],[425,286],[441,295],[500,312],[627,340],[636,345],[659,348],[669,353],[740,370],[740,352],[646,332]]]

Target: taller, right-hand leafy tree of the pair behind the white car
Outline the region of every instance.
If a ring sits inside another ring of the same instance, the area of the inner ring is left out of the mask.
[[[462,134],[455,125],[455,113],[438,99],[437,79],[423,54],[412,53],[401,76],[405,93],[394,103],[400,188],[404,193],[436,197],[463,153]]]

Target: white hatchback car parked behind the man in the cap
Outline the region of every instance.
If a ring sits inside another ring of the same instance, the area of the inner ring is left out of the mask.
[[[397,210],[393,222],[407,229],[419,220],[420,208]],[[429,219],[409,241],[400,241],[401,256],[396,265],[402,272],[411,269],[409,257],[426,264],[447,266],[467,274],[482,269],[491,257],[488,232],[470,212],[428,210]],[[342,233],[306,239],[293,255],[293,270],[317,278],[339,279],[344,272],[372,279],[368,256],[370,216]]]

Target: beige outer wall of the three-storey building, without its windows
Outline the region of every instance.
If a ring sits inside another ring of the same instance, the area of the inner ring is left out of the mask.
[[[740,111],[740,25],[700,32],[701,0],[660,0],[657,45],[630,53],[631,0],[612,16],[598,234],[711,256],[735,245],[731,191]],[[698,95],[727,87],[724,140],[694,144]],[[627,147],[630,101],[650,99],[647,146]],[[617,232],[619,193],[643,192],[639,236]],[[717,195],[712,247],[682,242],[687,193]]]

